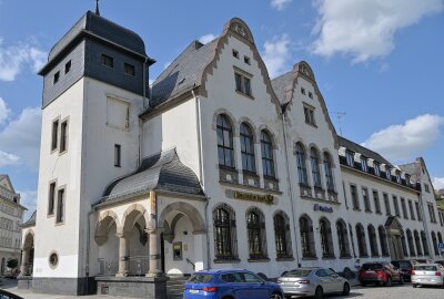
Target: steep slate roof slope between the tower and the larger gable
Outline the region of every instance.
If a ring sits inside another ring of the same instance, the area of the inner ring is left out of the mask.
[[[200,85],[202,73],[213,59],[218,40],[206,44],[193,41],[186,47],[155,79],[148,111]]]

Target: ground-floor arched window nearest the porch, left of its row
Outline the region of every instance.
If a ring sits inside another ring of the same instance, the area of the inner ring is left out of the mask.
[[[235,230],[235,214],[228,205],[221,205],[213,210],[214,255],[218,260],[238,258]]]

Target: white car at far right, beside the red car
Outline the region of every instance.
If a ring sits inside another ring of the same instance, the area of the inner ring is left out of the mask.
[[[444,267],[440,264],[417,264],[412,271],[412,286],[430,285],[444,288]]]

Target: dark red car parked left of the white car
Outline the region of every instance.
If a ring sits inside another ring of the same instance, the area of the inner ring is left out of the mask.
[[[401,271],[387,261],[365,262],[360,269],[359,279],[363,287],[370,283],[390,287],[393,281],[404,285]]]

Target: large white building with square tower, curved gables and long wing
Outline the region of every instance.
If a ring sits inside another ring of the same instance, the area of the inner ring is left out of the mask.
[[[271,81],[236,18],[149,89],[153,62],[92,12],[51,50],[19,287],[164,298],[164,274],[435,258],[423,159],[396,167],[339,137],[306,62]]]

